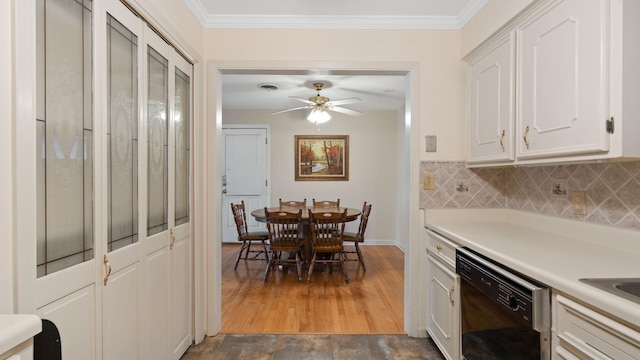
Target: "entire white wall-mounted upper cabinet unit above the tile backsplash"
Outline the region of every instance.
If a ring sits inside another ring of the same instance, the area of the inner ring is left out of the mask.
[[[470,54],[469,166],[640,157],[639,16],[631,0],[534,2]]]

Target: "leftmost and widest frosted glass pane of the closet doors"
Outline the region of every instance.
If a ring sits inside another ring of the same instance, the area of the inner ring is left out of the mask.
[[[40,0],[38,277],[93,258],[91,1]]]

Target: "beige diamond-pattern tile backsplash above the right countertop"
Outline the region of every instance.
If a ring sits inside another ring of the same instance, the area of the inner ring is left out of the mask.
[[[421,163],[420,207],[510,208],[640,230],[640,161],[515,168],[473,168],[464,162]],[[557,190],[554,192],[554,190]],[[586,214],[571,206],[571,192],[586,193]]]

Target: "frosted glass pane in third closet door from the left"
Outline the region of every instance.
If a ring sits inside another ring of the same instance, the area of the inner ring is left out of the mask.
[[[152,47],[148,59],[148,218],[147,235],[168,228],[169,62]]]

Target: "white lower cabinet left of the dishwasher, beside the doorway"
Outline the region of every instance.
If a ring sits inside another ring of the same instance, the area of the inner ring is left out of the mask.
[[[445,358],[459,359],[460,276],[455,273],[456,245],[431,231],[427,231],[427,237],[427,332]]]

